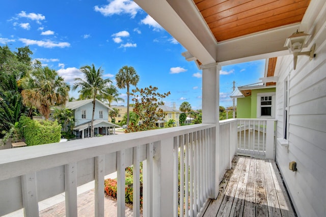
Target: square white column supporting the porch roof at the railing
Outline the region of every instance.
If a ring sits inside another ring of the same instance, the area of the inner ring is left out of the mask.
[[[219,194],[219,163],[220,163],[220,65],[211,67],[203,67],[203,98],[202,123],[216,124],[216,129],[212,131],[212,148],[211,150],[211,182],[214,186],[210,186],[210,198],[216,199]]]

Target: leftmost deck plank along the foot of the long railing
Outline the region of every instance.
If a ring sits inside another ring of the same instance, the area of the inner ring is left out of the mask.
[[[218,214],[218,211],[220,209],[221,203],[223,201],[226,189],[228,187],[229,184],[229,180],[233,174],[233,171],[237,165],[237,162],[239,160],[239,156],[235,156],[232,160],[232,168],[231,170],[228,170],[224,177],[223,180],[221,181],[220,185],[219,185],[219,196],[218,198],[216,198],[216,200],[211,200],[209,206],[207,207],[205,213],[203,214],[203,216],[216,216],[216,214]]]

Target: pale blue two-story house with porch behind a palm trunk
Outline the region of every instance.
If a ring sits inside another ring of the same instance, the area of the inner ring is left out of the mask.
[[[85,99],[67,102],[66,107],[71,109],[74,114],[75,124],[73,132],[76,138],[90,137],[90,127],[93,114],[93,99]],[[119,125],[108,122],[108,112],[112,110],[100,100],[95,100],[94,112],[94,135],[115,134],[115,127]]]

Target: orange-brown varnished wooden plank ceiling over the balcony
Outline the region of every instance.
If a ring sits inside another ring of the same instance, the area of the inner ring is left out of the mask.
[[[301,22],[310,0],[193,0],[218,42]]]

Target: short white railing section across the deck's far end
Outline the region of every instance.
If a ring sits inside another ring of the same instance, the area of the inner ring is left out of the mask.
[[[275,119],[237,119],[237,153],[275,158]]]

